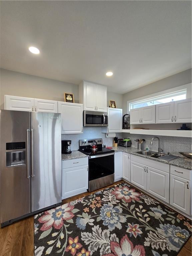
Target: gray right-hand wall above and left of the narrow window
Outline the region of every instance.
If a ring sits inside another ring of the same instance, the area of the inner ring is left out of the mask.
[[[145,95],[161,92],[188,83],[191,83],[191,69],[127,92],[123,94],[123,113],[126,114],[127,112],[128,100],[137,99]]]

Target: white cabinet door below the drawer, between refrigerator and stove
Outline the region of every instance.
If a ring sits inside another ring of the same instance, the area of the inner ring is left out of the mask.
[[[88,165],[62,169],[62,199],[86,192]]]

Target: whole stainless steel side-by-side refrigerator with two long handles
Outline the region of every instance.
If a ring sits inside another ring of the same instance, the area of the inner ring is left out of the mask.
[[[61,114],[0,110],[1,226],[61,204]]]

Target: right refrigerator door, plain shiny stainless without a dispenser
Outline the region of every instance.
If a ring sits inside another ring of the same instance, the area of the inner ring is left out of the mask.
[[[31,112],[31,211],[61,202],[61,114]]]

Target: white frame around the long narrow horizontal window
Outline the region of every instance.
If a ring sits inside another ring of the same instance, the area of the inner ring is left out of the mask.
[[[192,89],[191,88],[192,88],[192,83],[189,83],[189,84],[177,86],[177,87],[174,87],[174,88],[171,88],[171,89],[168,89],[168,90],[164,90],[164,91],[156,92],[156,93],[153,93],[153,94],[149,94],[149,95],[137,98],[137,99],[129,100],[129,101],[127,101],[127,114],[130,113],[130,103],[135,103],[137,101],[139,102],[139,101],[142,101],[142,100],[150,100],[151,98],[155,98],[155,97],[158,97],[158,96],[162,96],[163,94],[169,94],[169,93],[176,92],[176,91],[179,91],[179,90],[186,89],[187,90],[186,99],[192,98],[192,95],[191,95]]]

